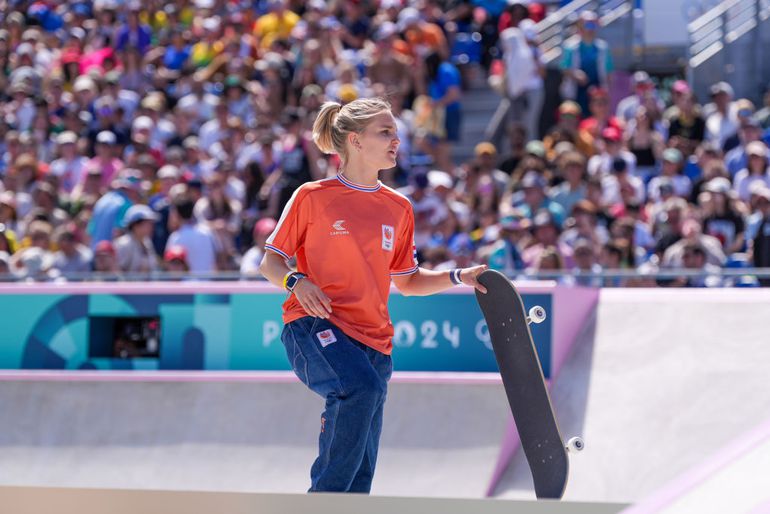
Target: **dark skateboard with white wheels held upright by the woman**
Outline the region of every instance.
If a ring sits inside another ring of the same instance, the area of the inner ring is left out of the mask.
[[[568,451],[583,449],[583,440],[573,437],[564,445],[545,386],[540,359],[529,323],[545,320],[545,309],[532,307],[529,316],[524,302],[502,273],[486,270],[478,277],[487,293],[476,291],[489,328],[505,394],[521,439],[524,455],[540,498],[560,499],[569,476]]]

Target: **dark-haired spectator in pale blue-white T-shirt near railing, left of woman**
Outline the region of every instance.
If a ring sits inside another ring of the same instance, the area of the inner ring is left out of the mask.
[[[184,247],[187,250],[191,273],[214,273],[218,269],[217,261],[220,260],[221,248],[208,226],[195,219],[194,209],[195,201],[188,195],[179,196],[174,200],[173,212],[178,219],[179,228],[169,236],[166,249],[176,245]]]

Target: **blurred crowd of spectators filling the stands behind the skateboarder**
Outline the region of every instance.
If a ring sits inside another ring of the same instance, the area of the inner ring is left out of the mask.
[[[312,143],[318,108],[375,95],[402,140],[382,181],[413,202],[425,267],[704,286],[770,266],[770,102],[638,71],[613,109],[593,13],[563,49],[558,121],[539,127],[540,4],[3,4],[0,277],[256,277],[293,191],[337,169]],[[499,123],[456,163],[474,69],[502,94]],[[708,273],[651,276],[682,268]],[[639,273],[599,276],[618,269]]]

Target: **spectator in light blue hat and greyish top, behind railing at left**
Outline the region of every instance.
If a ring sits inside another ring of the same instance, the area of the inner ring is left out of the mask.
[[[118,267],[125,273],[158,270],[158,255],[150,239],[158,215],[146,205],[132,205],[123,216],[126,233],[114,242]]]

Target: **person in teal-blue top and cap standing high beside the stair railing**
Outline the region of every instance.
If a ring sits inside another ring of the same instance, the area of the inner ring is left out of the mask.
[[[580,13],[580,40],[565,45],[560,65],[564,75],[562,98],[576,101],[583,112],[588,112],[588,89],[595,86],[609,90],[613,71],[612,53],[607,42],[596,36],[598,29],[599,17],[595,12]]]

